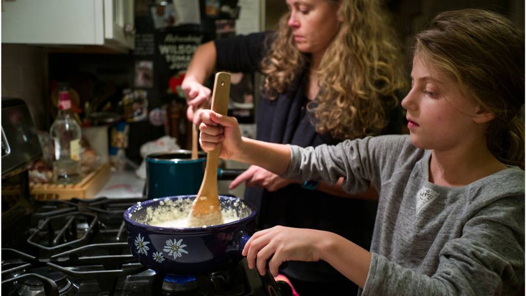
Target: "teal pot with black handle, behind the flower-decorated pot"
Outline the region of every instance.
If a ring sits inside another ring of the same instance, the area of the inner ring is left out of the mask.
[[[190,150],[160,152],[146,156],[146,186],[148,199],[165,196],[197,194],[203,182],[206,154],[191,159]],[[218,180],[234,180],[243,170],[218,169]]]

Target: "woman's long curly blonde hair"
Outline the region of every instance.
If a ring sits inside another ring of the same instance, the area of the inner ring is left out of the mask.
[[[316,71],[320,92],[308,105],[316,131],[336,139],[379,134],[388,124],[390,108],[398,104],[397,91],[404,87],[395,34],[378,0],[330,1],[341,1],[342,22]],[[289,17],[281,17],[261,62],[270,100],[285,92],[309,62],[309,55],[296,47]]]

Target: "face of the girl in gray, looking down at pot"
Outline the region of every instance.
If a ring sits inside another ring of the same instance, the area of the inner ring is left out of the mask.
[[[411,143],[420,149],[448,150],[469,143],[480,124],[477,105],[462,94],[457,83],[433,71],[420,57],[413,58],[411,91],[402,100],[407,110]]]

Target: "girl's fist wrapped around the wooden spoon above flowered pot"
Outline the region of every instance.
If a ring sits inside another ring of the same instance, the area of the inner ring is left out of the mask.
[[[241,150],[243,140],[235,117],[224,116],[211,110],[202,110],[199,117],[203,121],[199,125],[199,143],[205,152],[208,153],[222,144],[219,157],[230,159]]]

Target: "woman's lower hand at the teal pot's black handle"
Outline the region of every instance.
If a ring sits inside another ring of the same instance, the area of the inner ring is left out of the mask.
[[[299,181],[293,179],[284,179],[279,175],[271,173],[257,165],[251,165],[248,170],[241,173],[228,186],[229,189],[236,188],[242,182],[247,182],[247,187],[259,186],[270,192],[284,188],[291,183],[298,183]]]

